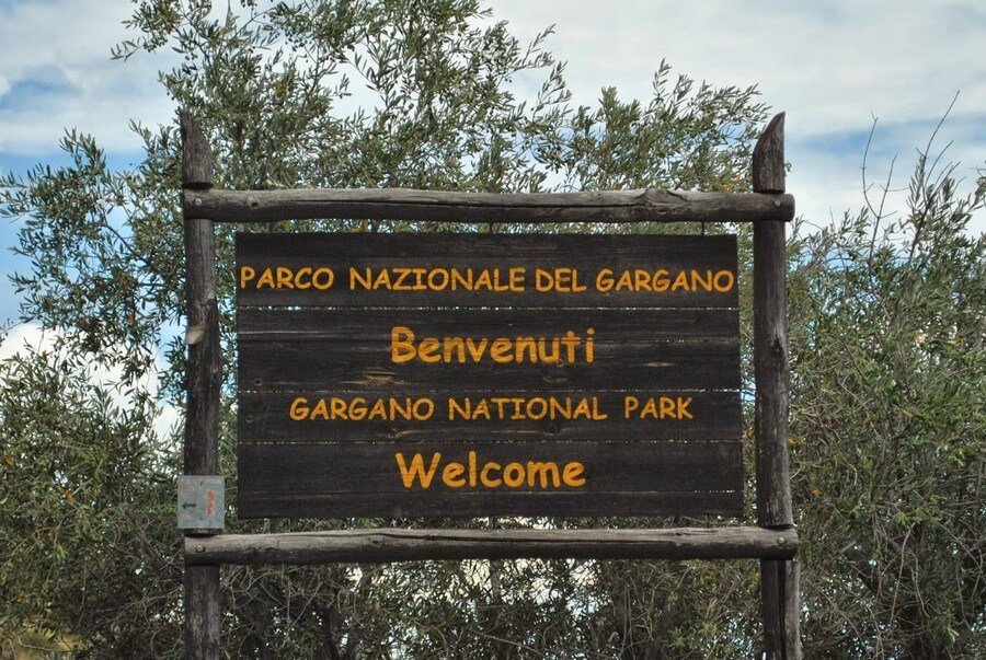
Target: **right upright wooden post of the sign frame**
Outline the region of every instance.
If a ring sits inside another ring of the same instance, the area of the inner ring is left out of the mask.
[[[784,115],[773,117],[753,154],[755,193],[784,193]],[[794,525],[788,456],[788,328],[784,223],[754,224],[754,375],[756,379],[757,523]],[[767,657],[801,658],[799,569],[794,560],[760,561]]]

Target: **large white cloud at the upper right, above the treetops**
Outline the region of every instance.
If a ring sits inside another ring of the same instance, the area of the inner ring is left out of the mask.
[[[584,95],[605,84],[646,95],[649,72],[666,58],[715,84],[756,83],[771,105],[796,112],[804,130],[823,134],[865,124],[870,113],[922,118],[960,88],[982,94],[986,18],[968,0],[942,4],[493,2],[525,34],[557,24],[550,46]]]

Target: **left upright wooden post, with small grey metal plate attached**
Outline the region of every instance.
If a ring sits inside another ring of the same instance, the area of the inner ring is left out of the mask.
[[[182,195],[208,189],[215,183],[215,160],[208,141],[192,116],[180,111],[182,131]],[[185,315],[188,345],[185,367],[186,475],[219,472],[219,387],[222,356],[219,308],[216,300],[216,238],[211,220],[185,218]],[[186,529],[186,536],[217,533]],[[185,658],[219,657],[219,565],[185,566]]]

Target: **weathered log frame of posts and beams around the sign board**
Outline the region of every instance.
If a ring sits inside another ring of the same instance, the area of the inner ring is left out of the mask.
[[[219,657],[221,564],[323,564],[467,558],[760,560],[768,658],[801,657],[798,534],[788,456],[783,114],[754,150],[754,193],[621,190],[496,195],[400,189],[214,189],[208,142],[185,112],[182,193],[186,254],[187,410],[184,472],[218,473],[221,354],[215,222],[369,218],[451,222],[753,222],[756,380],[755,526],[658,530],[344,530],[310,534],[222,534],[184,530],[186,658]]]

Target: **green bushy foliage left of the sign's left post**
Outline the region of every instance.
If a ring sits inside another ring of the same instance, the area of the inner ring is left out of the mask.
[[[50,350],[0,366],[0,629],[156,655],[181,635],[174,466],[152,453],[152,403],[121,407],[100,375]]]

